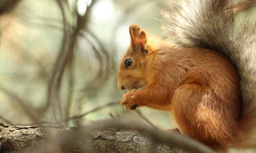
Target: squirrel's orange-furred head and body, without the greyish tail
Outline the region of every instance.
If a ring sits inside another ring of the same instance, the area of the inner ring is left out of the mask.
[[[121,105],[170,111],[183,133],[225,152],[239,131],[242,108],[238,74],[229,59],[214,50],[175,48],[164,40],[140,37],[137,25],[130,26],[130,34],[118,87],[145,88],[124,94]],[[126,68],[128,58],[133,62]]]

